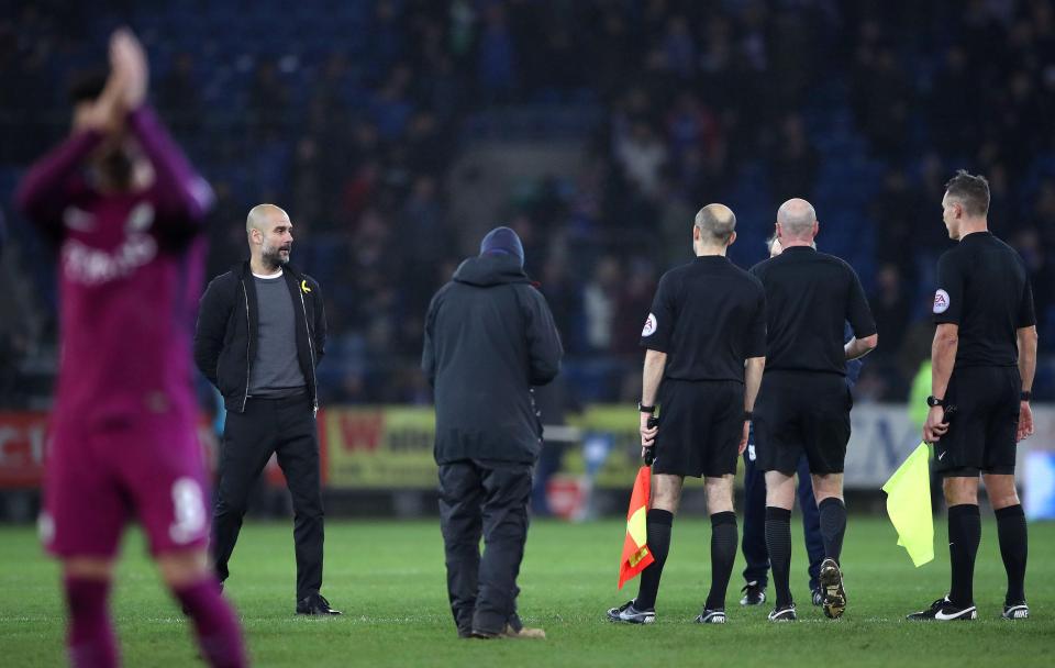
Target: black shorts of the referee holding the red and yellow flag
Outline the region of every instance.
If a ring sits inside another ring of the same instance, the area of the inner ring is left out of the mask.
[[[658,402],[653,474],[719,478],[736,472],[744,434],[743,383],[665,378]]]

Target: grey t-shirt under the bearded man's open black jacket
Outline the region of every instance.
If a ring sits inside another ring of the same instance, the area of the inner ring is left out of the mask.
[[[308,389],[297,357],[297,312],[282,275],[253,276],[259,327],[249,375],[251,397],[292,397]]]

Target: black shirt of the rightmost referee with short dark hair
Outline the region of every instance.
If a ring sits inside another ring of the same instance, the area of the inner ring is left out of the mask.
[[[959,325],[954,369],[1018,366],[1017,332],[1036,324],[1019,254],[988,231],[968,234],[942,254],[934,322]]]

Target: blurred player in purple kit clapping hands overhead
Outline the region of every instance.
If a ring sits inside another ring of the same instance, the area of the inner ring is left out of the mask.
[[[146,104],[147,77],[138,41],[116,31],[109,77],[75,88],[70,137],[18,193],[59,254],[60,371],[41,533],[63,561],[74,665],[119,663],[108,599],[121,535],[137,517],[202,657],[244,666],[206,554],[191,388],[212,192]]]

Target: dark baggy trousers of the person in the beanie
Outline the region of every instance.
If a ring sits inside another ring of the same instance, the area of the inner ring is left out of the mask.
[[[440,465],[447,594],[463,636],[473,630],[497,633],[507,623],[520,628],[517,576],[530,499],[529,464],[465,459]]]

